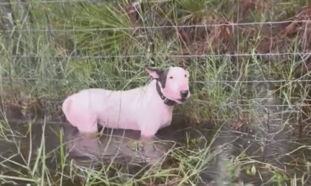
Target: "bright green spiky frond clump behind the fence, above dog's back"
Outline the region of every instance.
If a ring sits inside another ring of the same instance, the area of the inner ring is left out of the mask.
[[[118,54],[135,45],[131,21],[126,11],[104,3],[83,3],[73,20],[77,47],[90,54]]]

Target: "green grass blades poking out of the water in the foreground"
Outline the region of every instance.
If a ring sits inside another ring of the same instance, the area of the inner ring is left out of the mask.
[[[216,185],[243,185],[243,182],[283,185],[294,181],[301,183],[308,176],[308,166],[305,165],[308,165],[307,153],[310,151],[303,143],[299,144],[299,140],[290,138],[285,140],[292,140],[288,145],[294,147],[284,154],[272,154],[265,152],[271,149],[254,149],[252,146],[252,143],[263,141],[261,136],[253,138],[252,134],[244,132],[211,130],[209,135],[203,134],[199,138],[189,136],[185,144],[173,145],[164,153],[167,158],[157,163],[124,164],[99,158],[95,163],[79,165],[73,158],[68,158],[73,147],[64,141],[62,132],[55,130],[59,126],[47,125],[46,122],[33,124],[30,121],[14,130],[16,125],[11,122],[11,127],[6,127],[5,135],[1,136],[2,183],[179,185],[214,180]],[[241,134],[245,135],[241,139],[250,143],[245,145],[245,141],[239,141]],[[59,144],[50,140],[53,138]],[[281,144],[278,141],[274,143]],[[65,146],[69,148],[63,149]],[[275,156],[275,159],[269,156]],[[286,160],[282,159],[283,156]],[[296,177],[291,178],[291,175]]]

